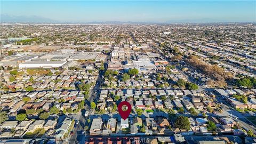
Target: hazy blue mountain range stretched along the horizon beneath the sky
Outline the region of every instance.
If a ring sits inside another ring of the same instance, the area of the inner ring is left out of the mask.
[[[214,22],[233,22],[221,21],[215,19],[185,19],[185,20],[171,20],[166,22],[133,22],[133,21],[92,21],[92,22],[63,22],[49,18],[33,16],[14,16],[9,14],[1,14],[1,22],[20,22],[20,23],[80,23],[80,24],[104,24],[104,25],[124,25],[124,24],[171,24],[171,23],[214,23]]]

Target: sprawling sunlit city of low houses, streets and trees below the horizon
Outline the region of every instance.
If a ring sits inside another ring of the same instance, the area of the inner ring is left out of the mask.
[[[0,143],[256,143],[253,15],[1,20]]]

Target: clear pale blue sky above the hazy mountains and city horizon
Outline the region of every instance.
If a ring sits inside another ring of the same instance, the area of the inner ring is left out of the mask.
[[[61,22],[255,22],[256,1],[2,1],[1,15]]]

